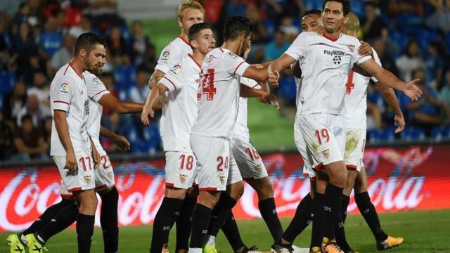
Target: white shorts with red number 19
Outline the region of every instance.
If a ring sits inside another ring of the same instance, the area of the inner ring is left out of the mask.
[[[342,116],[328,113],[300,115],[299,122],[300,132],[307,144],[307,159],[316,171],[332,162],[344,160]]]

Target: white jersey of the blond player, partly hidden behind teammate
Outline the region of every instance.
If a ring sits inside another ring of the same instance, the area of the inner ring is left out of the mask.
[[[160,58],[158,59],[158,64],[155,67],[155,70],[160,70],[164,73],[167,73],[176,63],[179,63],[181,60],[188,56],[188,53],[192,54],[192,48],[189,45],[188,41],[181,39],[181,37],[177,37],[173,41],[171,41],[164,49],[161,51]],[[160,134],[164,136],[165,129],[165,116],[162,115],[160,119]]]

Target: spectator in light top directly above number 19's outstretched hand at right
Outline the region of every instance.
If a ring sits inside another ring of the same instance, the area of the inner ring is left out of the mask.
[[[401,79],[406,82],[411,81],[413,70],[424,68],[425,63],[422,56],[420,56],[419,45],[416,39],[410,39],[406,45],[406,51],[395,62],[400,71]]]

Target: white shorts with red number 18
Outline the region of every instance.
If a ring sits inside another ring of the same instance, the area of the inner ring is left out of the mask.
[[[194,153],[184,151],[166,152],[166,186],[180,189],[191,188],[197,174]]]

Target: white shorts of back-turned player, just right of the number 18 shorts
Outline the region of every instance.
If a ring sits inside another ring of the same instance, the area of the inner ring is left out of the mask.
[[[230,164],[229,139],[191,134],[191,148],[197,158],[200,190],[226,190]]]

